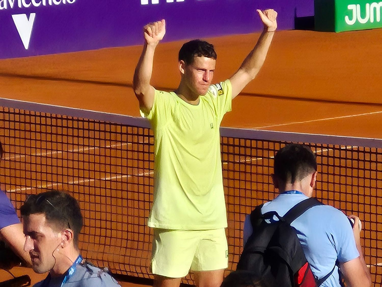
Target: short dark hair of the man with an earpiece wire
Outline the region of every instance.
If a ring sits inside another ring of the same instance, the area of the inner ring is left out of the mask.
[[[78,201],[64,191],[50,190],[28,197],[20,208],[21,216],[44,214],[47,221],[57,228],[68,226],[74,233],[74,245],[83,226],[83,217]]]

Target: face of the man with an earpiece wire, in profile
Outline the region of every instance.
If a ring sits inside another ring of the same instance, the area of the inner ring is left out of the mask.
[[[29,252],[32,268],[36,273],[48,272],[56,263],[53,252],[60,246],[62,235],[52,227],[44,214],[24,217],[24,250]]]

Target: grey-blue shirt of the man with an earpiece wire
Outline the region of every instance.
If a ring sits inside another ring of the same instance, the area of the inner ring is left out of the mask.
[[[49,284],[44,285],[43,281],[34,284],[34,287],[61,287],[65,275],[61,277],[50,278]],[[62,287],[121,287],[110,274],[91,264],[78,264],[76,272],[66,281]]]

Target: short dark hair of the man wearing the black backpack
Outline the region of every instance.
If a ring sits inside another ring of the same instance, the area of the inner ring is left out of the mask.
[[[275,156],[274,174],[284,183],[293,184],[314,171],[317,171],[316,156],[306,145],[288,144]]]

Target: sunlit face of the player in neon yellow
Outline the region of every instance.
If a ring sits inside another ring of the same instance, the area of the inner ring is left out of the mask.
[[[207,57],[194,57],[191,64],[185,64],[184,77],[195,95],[206,95],[214,77],[215,65],[216,60]]]

